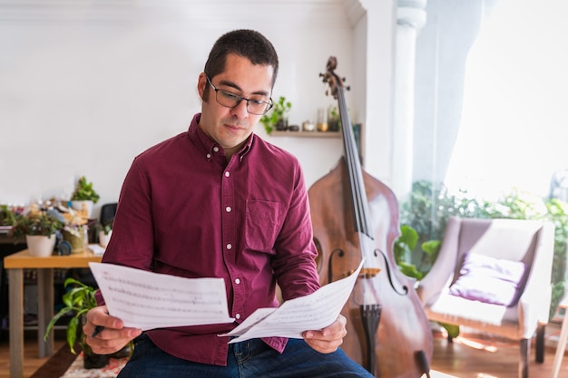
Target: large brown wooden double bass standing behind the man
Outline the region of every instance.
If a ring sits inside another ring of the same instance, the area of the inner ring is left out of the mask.
[[[308,190],[321,285],[348,276],[364,259],[341,314],[348,334],[341,349],[380,378],[429,376],[430,325],[414,281],[396,267],[397,199],[384,183],[361,169],[348,118],[343,80],[330,57],[320,73],[338,100],[344,156]],[[348,88],[347,88],[348,89]]]

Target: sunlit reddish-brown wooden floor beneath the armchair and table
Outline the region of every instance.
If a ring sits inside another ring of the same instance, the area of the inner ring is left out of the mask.
[[[530,378],[549,378],[554,359],[553,338],[559,327],[546,328],[547,344],[544,363],[534,362],[534,346],[531,348]],[[55,350],[64,345],[63,337],[56,337]],[[481,334],[463,334],[449,344],[444,334],[434,333],[434,356],[430,363],[431,378],[455,376],[459,378],[517,378],[519,347],[516,342],[488,339]],[[24,378],[32,375],[47,358],[37,358],[34,337],[26,337],[24,350]],[[441,374],[437,374],[440,372]],[[9,345],[6,337],[0,341],[0,378],[9,378]],[[386,377],[388,378],[388,377]],[[564,358],[559,378],[568,378],[568,358]]]

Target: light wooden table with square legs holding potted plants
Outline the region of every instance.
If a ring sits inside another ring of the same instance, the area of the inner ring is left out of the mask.
[[[89,267],[101,262],[102,256],[88,249],[69,256],[32,257],[27,249],[4,258],[10,269],[10,378],[22,378],[24,373],[24,269],[37,269],[37,344],[39,358],[54,353],[54,332],[44,342],[44,333],[54,317],[54,268]]]

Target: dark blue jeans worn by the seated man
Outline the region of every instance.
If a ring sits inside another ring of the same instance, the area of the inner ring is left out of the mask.
[[[301,339],[289,339],[283,354],[260,339],[229,346],[227,366],[192,363],[162,352],[142,334],[118,378],[373,378],[340,349],[320,354]]]

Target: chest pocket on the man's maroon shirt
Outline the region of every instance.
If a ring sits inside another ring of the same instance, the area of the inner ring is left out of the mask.
[[[247,247],[261,252],[271,252],[282,227],[284,205],[263,200],[247,201],[245,241]]]

